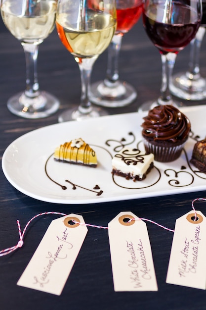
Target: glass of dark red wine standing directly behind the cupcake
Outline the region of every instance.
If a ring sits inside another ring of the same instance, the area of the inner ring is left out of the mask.
[[[169,82],[176,55],[194,39],[202,17],[201,0],[145,0],[143,25],[162,58],[161,95],[154,103],[145,103],[139,110],[155,105],[176,103],[169,91]]]

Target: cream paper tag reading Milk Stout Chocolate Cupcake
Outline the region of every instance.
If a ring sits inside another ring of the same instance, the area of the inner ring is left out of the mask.
[[[175,223],[166,283],[206,289],[206,217],[188,212]]]

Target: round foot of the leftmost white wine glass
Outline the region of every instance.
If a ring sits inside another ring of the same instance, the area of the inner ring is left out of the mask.
[[[55,113],[59,108],[59,101],[47,92],[40,92],[35,98],[29,98],[25,93],[12,96],[7,107],[9,111],[23,118],[44,118]]]

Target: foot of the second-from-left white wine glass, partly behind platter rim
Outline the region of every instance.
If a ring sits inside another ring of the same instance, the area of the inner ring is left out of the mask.
[[[62,112],[58,117],[58,121],[59,123],[72,121],[72,120],[82,121],[84,119],[105,116],[108,114],[109,113],[107,111],[101,109],[100,107],[92,106],[90,113],[81,113],[77,108],[73,108],[73,109],[69,109],[69,110]]]

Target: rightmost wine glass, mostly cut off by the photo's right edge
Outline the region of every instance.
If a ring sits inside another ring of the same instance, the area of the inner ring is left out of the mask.
[[[170,92],[184,100],[206,99],[206,78],[200,73],[200,50],[206,32],[206,1],[202,1],[203,16],[195,39],[190,43],[190,58],[186,72],[177,73],[170,83]]]

